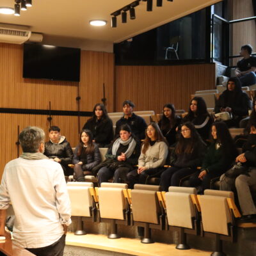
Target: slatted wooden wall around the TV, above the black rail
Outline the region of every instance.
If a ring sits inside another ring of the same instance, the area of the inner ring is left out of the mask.
[[[81,52],[81,81],[47,81],[22,77],[22,45],[0,43],[0,108],[77,110],[77,86],[81,111],[92,111],[106,86],[109,111],[113,111],[114,56],[107,52]]]

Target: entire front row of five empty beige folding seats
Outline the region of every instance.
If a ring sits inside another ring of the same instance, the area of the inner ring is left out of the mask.
[[[208,189],[199,196],[195,188],[170,187],[165,193],[159,186],[135,184],[127,189],[127,184],[102,183],[93,188],[92,182],[68,182],[67,188],[77,235],[85,234],[86,221],[109,223],[109,238],[120,237],[117,225],[143,227],[141,243],[154,243],[152,229],[177,230],[177,249],[189,249],[186,234],[193,234],[213,237],[214,253],[223,253],[221,241],[234,242],[235,218],[241,216],[228,191]]]

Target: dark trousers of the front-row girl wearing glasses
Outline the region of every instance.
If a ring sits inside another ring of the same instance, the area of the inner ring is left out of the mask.
[[[195,173],[194,168],[171,167],[161,174],[160,185],[163,191],[168,191],[170,186],[180,186],[180,180],[188,175]]]

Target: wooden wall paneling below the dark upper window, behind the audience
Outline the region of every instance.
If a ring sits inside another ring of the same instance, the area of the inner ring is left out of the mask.
[[[138,111],[161,113],[167,102],[186,110],[196,90],[214,89],[215,65],[116,66],[115,74],[115,111],[131,99]]]

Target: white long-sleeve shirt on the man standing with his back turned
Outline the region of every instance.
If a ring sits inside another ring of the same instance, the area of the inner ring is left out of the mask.
[[[17,158],[6,164],[0,186],[0,209],[12,202],[13,239],[23,248],[49,246],[71,223],[71,207],[63,170],[49,159]]]

